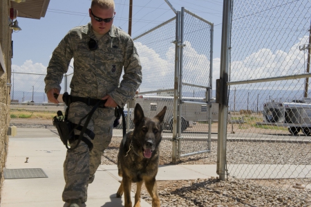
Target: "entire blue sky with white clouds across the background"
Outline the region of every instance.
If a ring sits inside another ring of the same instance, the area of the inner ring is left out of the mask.
[[[213,89],[220,74],[221,30],[223,21],[222,0],[169,0],[173,8],[187,10],[214,24],[214,53],[213,53]],[[259,2],[259,3],[258,3]],[[310,28],[311,2],[308,0],[236,0],[234,1],[234,15],[232,16],[232,54],[230,80],[249,80],[270,78],[279,75],[294,75],[305,73],[306,53],[299,51],[299,46],[308,44],[308,29]],[[87,24],[89,21],[88,8],[90,0],[50,0],[46,16],[41,19],[26,19],[18,17],[21,31],[12,34],[14,42],[12,70],[15,73],[15,82],[29,82],[15,84],[15,91],[32,90],[44,94],[44,74],[53,50],[66,35],[70,28]],[[128,31],[129,0],[115,0],[114,25]],[[175,17],[175,13],[164,0],[133,0],[133,38]],[[187,23],[185,30],[193,29],[197,25]],[[171,88],[173,71],[173,39],[169,37],[169,30],[164,28],[163,33],[157,33],[154,39],[135,41],[142,61],[144,80],[141,88],[144,91],[161,88]],[[209,57],[205,38],[191,36],[192,42],[186,41],[184,49],[185,75],[184,81],[199,80],[200,84],[207,83],[205,66],[209,64]],[[187,36],[187,35],[186,35]],[[165,38],[169,37],[169,38]],[[158,39],[166,39],[157,42]],[[156,40],[156,41],[151,41]],[[152,42],[153,46],[146,43]],[[203,46],[205,45],[205,47]],[[200,47],[201,46],[201,47]],[[151,64],[153,63],[153,64]],[[154,64],[156,63],[156,64]],[[71,73],[73,69],[69,69]],[[156,71],[154,76],[149,72]],[[19,73],[38,73],[42,75],[22,75]],[[158,79],[155,79],[158,77]],[[70,78],[70,76],[69,76]],[[14,82],[13,80],[13,82]],[[70,81],[70,79],[69,79]],[[195,82],[192,82],[195,83]],[[34,87],[32,87],[34,86]],[[262,100],[270,96],[285,95],[276,91],[299,91],[303,87],[303,80],[287,82],[270,82],[265,84],[243,84],[236,86],[240,91],[241,102],[245,102],[245,91],[254,91],[252,102],[258,99],[258,93],[264,94]],[[233,88],[232,88],[233,89]],[[256,90],[266,91],[256,91]],[[272,91],[272,89],[274,91]],[[191,89],[189,91],[191,92]],[[236,93],[238,95],[238,92]],[[300,94],[300,92],[299,92]],[[301,93],[302,94],[302,93]],[[215,93],[212,95],[215,97]],[[40,95],[39,97],[44,97]],[[29,98],[28,98],[29,99]]]

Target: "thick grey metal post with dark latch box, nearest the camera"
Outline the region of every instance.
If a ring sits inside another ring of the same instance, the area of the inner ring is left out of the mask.
[[[217,145],[217,170],[220,180],[225,180],[226,175],[226,147],[227,147],[227,112],[228,112],[228,77],[229,77],[229,49],[231,35],[232,0],[223,1],[223,30],[220,55],[220,80],[216,87],[216,97],[219,104],[218,110],[218,145]]]

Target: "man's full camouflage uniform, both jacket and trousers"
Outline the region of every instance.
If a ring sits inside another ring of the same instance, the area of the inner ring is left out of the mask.
[[[95,39],[98,45],[94,51],[88,48],[91,38]],[[68,71],[72,58],[74,58],[74,74],[70,82],[72,96],[101,99],[109,94],[117,105],[124,107],[125,103],[133,98],[142,82],[142,69],[133,40],[115,26],[100,39],[95,37],[91,23],[70,30],[55,48],[50,59],[45,78],[46,92],[53,88],[61,89],[63,75]],[[124,75],[120,82],[123,66]],[[68,120],[79,123],[91,109],[91,106],[83,102],[73,102],[69,108]],[[93,150],[89,152],[88,145],[81,141],[75,150],[67,151],[64,162],[66,186],[62,195],[64,201],[72,199],[86,201],[88,179],[95,174],[101,156],[111,141],[113,120],[115,120],[113,108],[98,108],[88,124],[88,129],[95,133],[95,139],[92,141]],[[79,134],[79,131],[75,134]]]

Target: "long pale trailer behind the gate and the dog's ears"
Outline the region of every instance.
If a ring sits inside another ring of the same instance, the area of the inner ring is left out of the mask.
[[[208,121],[208,105],[205,98],[182,98],[182,131],[187,127],[193,127],[197,122]],[[167,113],[164,118],[164,129],[173,129],[173,96],[159,95],[138,95],[135,96],[135,102],[139,103],[147,117],[156,116],[164,106],[167,106]],[[133,120],[133,109],[124,108],[126,113],[130,114],[130,120]],[[129,111],[129,112],[128,112]],[[218,104],[215,98],[211,98],[211,121],[218,121]],[[130,123],[130,127],[133,124]]]

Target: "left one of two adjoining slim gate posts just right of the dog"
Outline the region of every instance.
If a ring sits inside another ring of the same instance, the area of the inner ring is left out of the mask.
[[[175,73],[174,73],[174,100],[173,100],[173,138],[172,138],[172,163],[177,162],[177,116],[178,116],[178,77],[180,55],[180,11],[176,13],[176,39],[175,43]]]

